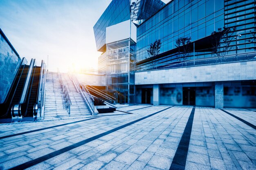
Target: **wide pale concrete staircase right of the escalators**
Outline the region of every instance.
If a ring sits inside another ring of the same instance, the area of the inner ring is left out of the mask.
[[[61,89],[61,82],[58,78],[58,73],[47,72],[45,85],[44,120],[81,118],[90,115],[90,111],[88,110],[87,105],[84,101],[81,101],[83,100],[81,94],[76,92],[73,84],[70,84],[70,82],[66,82],[64,80],[64,77],[66,77],[64,75],[65,74],[62,76],[63,83],[65,85],[67,84],[67,90],[73,104],[71,105],[71,113],[69,114],[69,108],[67,107],[67,102]]]

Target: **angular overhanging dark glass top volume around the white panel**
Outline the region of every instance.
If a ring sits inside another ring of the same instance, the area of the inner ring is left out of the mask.
[[[161,0],[112,0],[93,27],[97,50],[106,51],[106,27],[130,19],[145,20],[163,6]]]

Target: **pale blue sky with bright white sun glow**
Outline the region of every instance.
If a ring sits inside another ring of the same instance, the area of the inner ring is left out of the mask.
[[[163,2],[167,2],[164,0]],[[97,69],[93,26],[111,0],[0,0],[0,28],[28,62],[60,68]]]

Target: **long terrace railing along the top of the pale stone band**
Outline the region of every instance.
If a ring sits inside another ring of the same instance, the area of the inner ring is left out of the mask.
[[[189,66],[196,66],[196,65],[210,65],[210,64],[228,63],[228,62],[236,62],[236,61],[247,61],[247,60],[254,60],[254,59],[256,59],[256,53],[248,52],[246,54],[233,54],[228,56],[207,57],[207,58],[200,58],[200,59],[190,59],[185,61],[147,63],[141,66],[138,65],[136,67],[136,72],[146,71],[146,70],[189,67]]]

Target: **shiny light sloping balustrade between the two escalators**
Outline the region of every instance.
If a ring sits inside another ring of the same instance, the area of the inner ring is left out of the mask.
[[[29,70],[27,72],[27,77],[26,77],[26,80],[25,80],[25,83],[24,83],[24,86],[22,89],[22,95],[21,95],[20,102],[19,102],[20,104],[24,103],[26,100],[27,92],[29,90],[29,83],[31,81],[31,75],[32,75],[35,63],[36,63],[36,59],[31,59],[31,62],[29,65]]]

